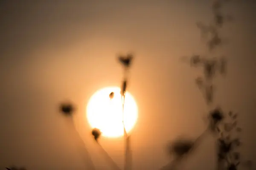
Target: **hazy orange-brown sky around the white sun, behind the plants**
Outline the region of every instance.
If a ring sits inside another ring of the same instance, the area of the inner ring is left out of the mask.
[[[256,161],[256,43],[254,1],[234,1],[234,17],[218,54],[229,59],[225,79],[216,79],[216,100],[238,111],[242,153]],[[70,129],[58,103],[78,107],[76,125],[99,170],[107,164],[83,125],[86,103],[99,88],[119,86],[116,54],[134,51],[128,90],[139,107],[132,136],[134,170],[157,170],[169,160],[164,147],[177,136],[196,137],[206,127],[207,107],[194,83],[200,73],[179,58],[204,54],[197,21],[209,21],[203,0],[0,2],[0,168],[82,169]],[[122,140],[102,139],[122,166]],[[213,170],[214,142],[209,136],[183,170]]]

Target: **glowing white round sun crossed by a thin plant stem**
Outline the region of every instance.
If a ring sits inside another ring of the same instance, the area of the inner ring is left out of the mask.
[[[114,93],[110,99],[111,92]],[[128,133],[137,122],[138,109],[133,96],[126,92],[124,124]],[[98,128],[102,136],[117,138],[124,135],[122,98],[119,87],[102,88],[91,96],[87,104],[87,121],[92,128]]]

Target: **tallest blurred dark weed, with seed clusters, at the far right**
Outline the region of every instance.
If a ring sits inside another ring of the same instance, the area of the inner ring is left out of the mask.
[[[196,23],[201,31],[202,40],[206,42],[207,48],[211,53],[216,48],[222,46],[222,38],[220,29],[224,23],[231,20],[230,16],[224,16],[221,11],[222,6],[229,0],[215,0],[212,4],[213,21],[206,25],[204,23]],[[220,107],[211,109],[214,105],[214,79],[219,73],[224,76],[227,73],[227,60],[224,56],[220,57],[205,57],[201,55],[192,55],[190,57],[190,65],[198,68],[203,67],[203,76],[197,77],[195,83],[204,96],[207,106],[209,107],[209,130],[213,135],[218,134],[216,139],[217,150],[217,170],[237,170],[241,156],[238,147],[241,145],[238,137],[232,137],[231,134],[235,130],[241,132],[241,128],[237,127],[237,114],[231,111],[225,114]],[[228,115],[231,122],[224,122]],[[222,127],[222,128],[221,128]],[[247,164],[250,167],[251,164]]]

